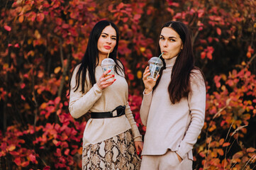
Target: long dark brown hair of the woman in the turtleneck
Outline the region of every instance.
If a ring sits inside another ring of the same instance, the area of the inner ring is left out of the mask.
[[[162,28],[165,28],[165,27],[172,28],[174,31],[176,31],[179,34],[179,37],[182,39],[182,45],[183,45],[183,48],[179,52],[179,55],[177,56],[177,59],[172,68],[172,75],[171,75],[172,79],[169,82],[169,86],[168,86],[169,99],[174,104],[174,103],[179,103],[179,101],[182,98],[187,97],[189,95],[189,92],[191,91],[191,86],[189,81],[190,74],[193,69],[199,69],[199,68],[194,66],[194,55],[193,55],[193,48],[191,44],[191,36],[187,26],[184,23],[179,21],[169,21],[162,26]],[[158,51],[158,55],[160,55],[161,50],[159,45],[158,45],[157,51]],[[163,60],[162,57],[161,59]],[[165,69],[165,64],[162,70],[163,69]],[[159,79],[157,79],[157,83],[154,89],[156,88],[156,86],[158,85],[162,77],[162,70],[160,72]],[[204,77],[203,73],[202,75]]]

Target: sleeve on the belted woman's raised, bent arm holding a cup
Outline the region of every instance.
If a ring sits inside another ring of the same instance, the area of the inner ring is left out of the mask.
[[[69,97],[69,112],[73,118],[79,118],[89,111],[89,109],[94,106],[94,103],[101,97],[102,90],[94,84],[88,91],[88,87],[85,86],[84,90],[87,91],[86,94],[82,94],[82,84],[80,83],[77,91],[74,91],[74,86],[76,84],[76,73],[78,67],[74,69],[72,79],[70,81],[70,97]]]

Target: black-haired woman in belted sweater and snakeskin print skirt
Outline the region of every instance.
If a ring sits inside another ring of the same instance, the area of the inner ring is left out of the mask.
[[[114,23],[96,23],[82,62],[72,73],[70,114],[79,118],[91,113],[84,129],[83,170],[140,169],[138,154],[143,149],[143,142],[128,105],[123,64],[116,59],[118,40],[118,28]],[[113,80],[113,76],[107,76],[108,71],[103,72],[101,68],[101,61],[108,54],[116,63]],[[118,106],[122,110],[113,111]]]

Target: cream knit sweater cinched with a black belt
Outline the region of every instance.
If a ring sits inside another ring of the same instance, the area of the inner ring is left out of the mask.
[[[70,82],[69,112],[73,118],[79,118],[89,112],[113,111],[117,106],[126,106],[126,114],[116,118],[89,119],[84,129],[83,146],[96,144],[111,137],[121,134],[131,128],[134,141],[142,141],[138,127],[134,121],[133,113],[128,104],[128,84],[126,79],[115,73],[116,81],[106,89],[101,90],[97,84],[91,86],[89,73],[87,71],[85,93],[82,94],[81,84],[77,91],[74,91],[76,84],[75,76],[79,65],[74,69]],[[119,74],[123,75],[121,72]],[[96,81],[103,74],[101,66],[95,70]],[[80,79],[81,80],[81,79]]]

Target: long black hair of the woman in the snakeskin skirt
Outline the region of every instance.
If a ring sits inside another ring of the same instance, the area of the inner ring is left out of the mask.
[[[91,33],[89,35],[87,50],[84,53],[82,62],[79,63],[80,66],[79,66],[79,69],[76,74],[76,85],[74,86],[74,91],[77,91],[77,89],[79,88],[80,77],[82,77],[82,81],[81,81],[82,93],[85,92],[84,91],[84,83],[86,80],[87,69],[89,72],[89,81],[90,81],[91,86],[96,84],[95,69],[96,69],[97,65],[99,64],[99,50],[98,50],[97,44],[98,44],[99,37],[101,36],[102,30],[104,30],[104,28],[106,28],[106,26],[111,26],[116,30],[116,46],[113,48],[113,51],[111,53],[109,53],[108,57],[113,59],[116,62],[116,67],[115,67],[116,73],[119,74],[117,72],[117,69],[118,69],[118,71],[123,72],[123,74],[125,74],[123,64],[121,63],[120,60],[116,59],[117,50],[118,50],[118,41],[119,41],[118,28],[114,23],[112,23],[110,21],[99,21],[98,23],[96,23],[94,28],[92,28]],[[117,60],[118,60],[118,62],[117,62]],[[74,72],[74,69],[72,71],[72,74],[73,74],[73,72]],[[82,74],[82,76],[81,76],[81,74]],[[69,81],[69,91],[71,88],[70,82],[71,82],[71,79]]]

